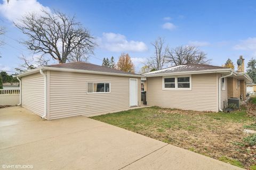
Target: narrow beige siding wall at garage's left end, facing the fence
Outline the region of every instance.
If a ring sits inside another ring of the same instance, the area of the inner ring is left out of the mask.
[[[21,106],[38,114],[44,114],[44,77],[35,73],[21,78]]]

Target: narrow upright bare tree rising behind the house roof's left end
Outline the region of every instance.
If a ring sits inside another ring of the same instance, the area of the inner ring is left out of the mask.
[[[166,52],[168,46],[165,46],[164,38],[157,38],[154,43],[155,55],[148,60],[146,64],[151,70],[161,70],[166,63]]]

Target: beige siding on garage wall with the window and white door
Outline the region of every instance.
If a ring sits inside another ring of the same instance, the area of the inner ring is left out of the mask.
[[[130,77],[50,71],[49,118],[129,109]],[[87,82],[110,82],[110,93],[87,94]],[[138,103],[140,105],[140,78]]]

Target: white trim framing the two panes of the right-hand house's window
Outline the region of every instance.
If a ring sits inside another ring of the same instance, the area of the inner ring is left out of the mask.
[[[178,78],[185,78],[189,77],[189,88],[179,88],[178,87]],[[165,88],[164,86],[164,79],[165,78],[175,78],[175,88]],[[192,77],[191,75],[176,75],[176,76],[163,76],[162,77],[162,90],[192,90]]]

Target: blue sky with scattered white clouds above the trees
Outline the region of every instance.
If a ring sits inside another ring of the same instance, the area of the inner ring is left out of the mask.
[[[212,59],[211,65],[221,66],[230,58],[235,64],[239,55],[245,63],[256,58],[256,1],[151,1],[151,0],[0,0],[0,25],[6,33],[0,39],[0,70],[13,73],[19,57],[34,54],[20,41],[26,40],[15,28],[22,15],[41,10],[59,10],[90,30],[98,46],[89,62],[102,64],[103,57],[129,53],[136,72],[154,56],[153,43],[165,39],[170,48],[197,46]],[[35,55],[34,55],[35,56]]]

